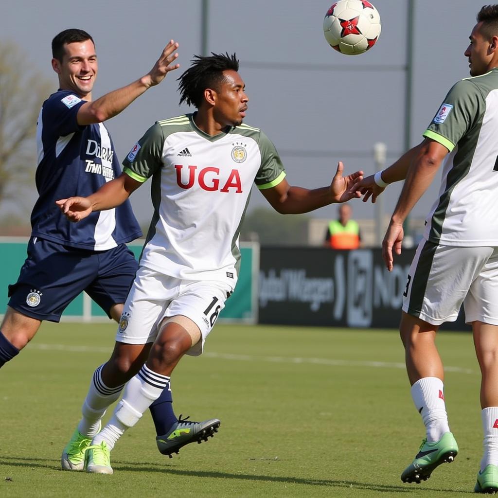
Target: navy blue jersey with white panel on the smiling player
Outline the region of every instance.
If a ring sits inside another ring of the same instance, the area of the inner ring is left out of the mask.
[[[78,124],[84,103],[73,92],[59,90],[41,108],[36,131],[39,198],[31,213],[32,235],[70,247],[106,250],[141,236],[129,201],[78,223],[69,222],[55,204],[67,197],[87,197],[121,175],[104,124]]]

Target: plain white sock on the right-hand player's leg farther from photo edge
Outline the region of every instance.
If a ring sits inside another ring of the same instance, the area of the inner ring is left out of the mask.
[[[422,415],[427,442],[439,441],[445,432],[450,432],[444,402],[443,381],[437,377],[424,377],[411,386],[415,408]]]

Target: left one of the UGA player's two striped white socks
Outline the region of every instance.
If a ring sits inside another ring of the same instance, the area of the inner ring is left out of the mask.
[[[94,437],[99,431],[100,420],[106,413],[108,406],[113,404],[121,394],[123,385],[118,387],[108,387],[101,377],[101,371],[104,365],[101,365],[93,374],[90,388],[81,413],[83,418],[78,424],[78,431],[87,437]]]

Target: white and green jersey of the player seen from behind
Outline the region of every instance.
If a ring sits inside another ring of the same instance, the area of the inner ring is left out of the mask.
[[[424,238],[498,246],[498,68],[456,83],[423,135],[450,151]]]

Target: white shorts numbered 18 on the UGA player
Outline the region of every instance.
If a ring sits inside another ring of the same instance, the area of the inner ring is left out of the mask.
[[[201,331],[202,341],[187,355],[199,356],[225,301],[232,293],[224,282],[180,280],[141,266],[124,303],[116,341],[154,342],[163,318],[185,316]]]

